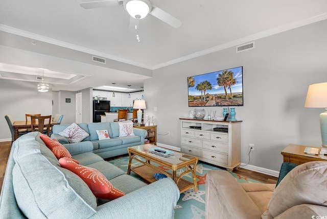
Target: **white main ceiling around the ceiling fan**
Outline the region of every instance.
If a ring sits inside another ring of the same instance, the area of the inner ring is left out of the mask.
[[[178,18],[182,25],[175,29],[148,15],[139,22],[141,41],[137,42],[123,7],[86,10],[81,2],[86,1],[0,0],[0,30],[28,32],[30,38],[44,37],[57,45],[155,69],[232,41],[327,17],[325,0],[152,0],[152,5]]]

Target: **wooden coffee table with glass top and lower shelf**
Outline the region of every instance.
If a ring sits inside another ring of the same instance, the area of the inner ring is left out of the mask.
[[[197,180],[196,164],[198,163],[197,157],[193,157],[191,155],[183,154],[175,151],[174,153],[167,155],[167,157],[164,157],[159,153],[155,153],[155,154],[151,153],[153,151],[150,150],[150,148],[159,148],[159,147],[152,144],[143,144],[143,145],[129,147],[127,149],[129,154],[127,174],[130,174],[132,171],[138,176],[145,179],[146,181],[152,183],[156,181],[156,179],[154,178],[154,174],[161,173],[161,174],[165,174],[167,177],[170,177],[174,180],[174,182],[179,188],[180,193],[192,187],[194,188],[194,191],[198,190],[198,185],[196,182]],[[133,159],[143,164],[136,167],[131,167]],[[163,167],[167,167],[168,169],[171,169],[172,173],[164,170],[164,168],[159,168],[153,163],[157,163]],[[177,176],[176,172],[181,168],[184,168],[184,171]],[[182,177],[188,173],[192,174],[193,183],[185,179],[182,179]]]

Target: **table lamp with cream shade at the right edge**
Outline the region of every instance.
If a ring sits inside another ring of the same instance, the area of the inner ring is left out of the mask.
[[[327,108],[327,82],[309,85],[305,107]],[[320,113],[319,120],[322,146],[327,147],[327,111]]]

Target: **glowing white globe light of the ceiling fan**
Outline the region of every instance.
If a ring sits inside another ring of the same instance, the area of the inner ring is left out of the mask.
[[[125,9],[133,18],[142,19],[150,12],[151,4],[146,0],[130,0],[126,1]]]

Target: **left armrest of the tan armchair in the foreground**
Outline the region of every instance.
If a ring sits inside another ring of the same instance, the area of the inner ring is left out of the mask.
[[[209,171],[205,183],[205,218],[261,218],[259,208],[226,171]]]

